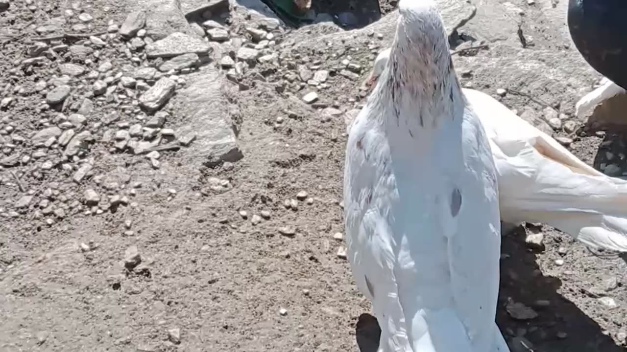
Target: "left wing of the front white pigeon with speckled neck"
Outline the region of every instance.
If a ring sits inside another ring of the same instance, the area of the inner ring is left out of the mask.
[[[364,108],[352,120],[344,168],[344,214],[347,258],[359,291],[368,298],[381,327],[380,349],[411,351],[393,275],[395,259],[390,209],[383,207],[398,195],[394,177],[386,177],[389,146],[382,131],[368,119]],[[357,137],[359,136],[359,137]],[[379,304],[375,303],[376,298]],[[378,308],[378,309],[377,309]],[[384,317],[387,314],[387,319]]]

